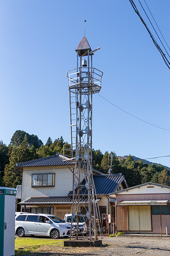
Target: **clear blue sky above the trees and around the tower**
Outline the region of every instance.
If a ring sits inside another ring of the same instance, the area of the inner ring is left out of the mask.
[[[170,1],[145,1],[170,47]],[[155,35],[139,1],[134,3]],[[0,140],[6,145],[16,130],[44,144],[49,136],[70,143],[66,74],[76,67],[85,19],[91,48],[101,47],[93,58],[104,73],[100,95],[170,130],[170,70],[129,0],[1,0]],[[143,159],[170,155],[170,131],[95,94],[93,147]],[[151,161],[170,166],[170,157]]]

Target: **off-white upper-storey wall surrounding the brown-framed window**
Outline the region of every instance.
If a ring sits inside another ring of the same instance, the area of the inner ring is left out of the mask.
[[[71,168],[73,170],[73,168]],[[54,187],[31,187],[31,175],[37,173],[55,173]],[[73,174],[63,167],[34,167],[23,170],[22,201],[30,197],[67,196],[73,190]]]

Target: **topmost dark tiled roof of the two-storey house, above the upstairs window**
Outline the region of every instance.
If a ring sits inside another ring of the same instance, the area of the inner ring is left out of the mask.
[[[60,154],[55,154],[49,157],[43,157],[23,163],[17,163],[16,167],[30,167],[30,166],[57,166],[57,165],[70,165],[72,162],[63,161],[63,157]]]

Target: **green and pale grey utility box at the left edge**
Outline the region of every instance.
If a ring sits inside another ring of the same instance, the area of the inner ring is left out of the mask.
[[[16,194],[16,189],[0,187],[0,256],[15,255]]]

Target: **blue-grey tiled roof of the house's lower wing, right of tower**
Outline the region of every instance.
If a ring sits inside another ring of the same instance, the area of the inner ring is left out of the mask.
[[[96,188],[96,195],[108,195],[116,191],[117,187],[125,181],[124,175],[122,173],[117,173],[114,175],[93,175],[94,185]],[[126,183],[126,181],[125,181]],[[85,185],[85,180],[82,181],[82,185]],[[70,192],[68,195],[72,195],[73,192]],[[80,194],[87,194],[87,189],[82,188]]]

